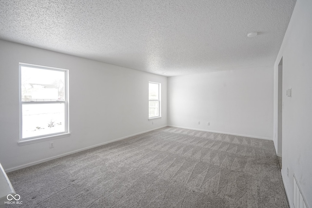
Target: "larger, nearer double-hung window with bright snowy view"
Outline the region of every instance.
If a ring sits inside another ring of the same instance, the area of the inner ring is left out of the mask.
[[[20,63],[20,141],[68,132],[68,70]]]

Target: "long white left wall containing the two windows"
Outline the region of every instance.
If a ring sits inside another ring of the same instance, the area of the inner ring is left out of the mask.
[[[19,146],[19,62],[69,70],[70,137]],[[148,82],[162,118],[148,120]],[[167,77],[0,40],[0,163],[5,170],[167,125]]]

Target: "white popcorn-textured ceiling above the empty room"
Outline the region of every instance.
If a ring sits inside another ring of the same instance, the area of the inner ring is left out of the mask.
[[[273,66],[294,4],[0,0],[0,39],[166,76]]]

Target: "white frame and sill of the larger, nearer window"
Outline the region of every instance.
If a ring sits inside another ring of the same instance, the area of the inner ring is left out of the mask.
[[[22,101],[21,99],[21,67],[32,67],[32,68],[38,68],[42,70],[54,70],[54,71],[60,71],[60,72],[65,72],[65,77],[64,77],[64,86],[65,86],[65,92],[64,92],[64,101],[32,101],[32,102],[27,102],[27,101]],[[26,144],[31,144],[31,143],[36,143],[36,142],[41,142],[41,141],[46,141],[46,140],[51,140],[51,139],[58,139],[62,137],[67,137],[70,136],[69,132],[69,70],[67,69],[59,69],[59,68],[54,68],[54,67],[47,67],[47,66],[39,66],[39,65],[33,65],[33,64],[27,64],[27,63],[19,63],[19,101],[20,101],[20,140],[19,140],[19,145],[26,145]],[[64,103],[65,104],[65,131],[64,132],[56,132],[56,133],[50,133],[50,134],[43,134],[39,136],[33,136],[33,137],[27,137],[27,138],[22,138],[22,105],[27,105],[27,104],[51,104],[51,103]]]

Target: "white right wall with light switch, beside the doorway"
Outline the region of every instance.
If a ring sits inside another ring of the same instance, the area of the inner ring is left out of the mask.
[[[312,207],[311,34],[312,1],[297,0],[274,65],[274,133],[277,133],[277,72],[278,63],[283,57],[282,176],[291,206],[294,173],[309,207]],[[292,88],[292,97],[286,96],[289,88]]]

